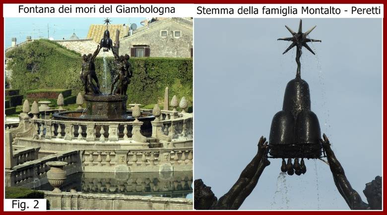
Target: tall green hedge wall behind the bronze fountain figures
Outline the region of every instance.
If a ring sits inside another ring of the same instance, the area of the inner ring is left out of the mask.
[[[124,53],[123,53],[124,54]],[[59,44],[38,40],[15,48],[6,53],[11,58],[8,69],[12,70],[10,83],[13,88],[26,91],[38,88],[71,89],[72,95],[83,92],[79,78],[81,70],[80,54],[74,53]],[[114,58],[106,57],[106,73],[110,91],[114,76]],[[177,95],[189,102],[193,101],[193,61],[191,58],[133,57],[130,58],[133,77],[128,87],[128,103],[155,104],[164,99],[164,88],[169,87],[170,99]],[[97,76],[104,88],[104,59],[95,61]]]

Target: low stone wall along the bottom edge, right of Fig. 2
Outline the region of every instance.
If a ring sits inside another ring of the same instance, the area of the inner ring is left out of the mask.
[[[43,191],[50,210],[193,210],[192,199]]]

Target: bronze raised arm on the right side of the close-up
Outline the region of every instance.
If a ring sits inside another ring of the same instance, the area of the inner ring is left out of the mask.
[[[323,140],[320,139],[320,141],[326,153],[330,171],[333,175],[333,181],[337,190],[344,198],[345,202],[347,202],[349,208],[351,210],[369,210],[370,207],[368,204],[362,201],[359,193],[356,192],[349,183],[347,177],[345,176],[344,169],[330,148],[329,140],[325,134],[323,134]]]

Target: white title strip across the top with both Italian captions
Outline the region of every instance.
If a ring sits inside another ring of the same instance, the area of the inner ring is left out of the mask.
[[[383,4],[4,4],[4,17],[383,18]]]

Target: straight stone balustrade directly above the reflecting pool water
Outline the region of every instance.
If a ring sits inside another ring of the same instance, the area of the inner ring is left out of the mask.
[[[193,148],[85,150],[84,172],[157,172],[193,169]]]

